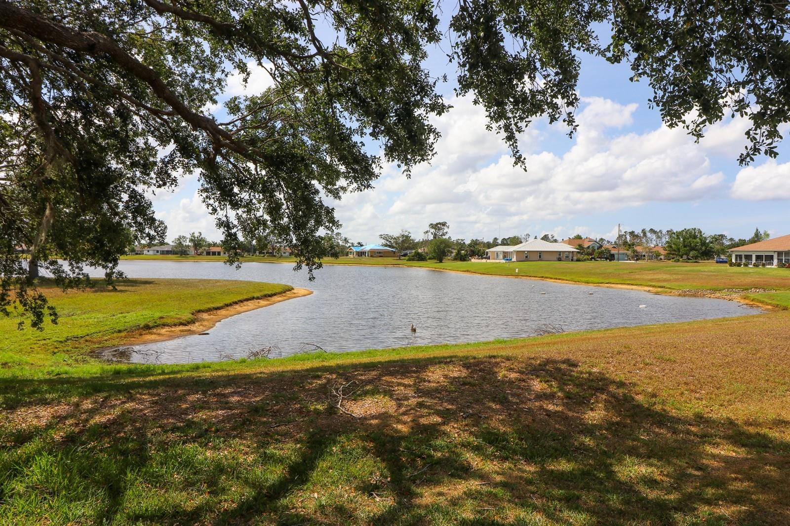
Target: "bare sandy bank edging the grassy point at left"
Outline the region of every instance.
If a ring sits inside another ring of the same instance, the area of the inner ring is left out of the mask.
[[[307,288],[293,287],[292,290],[282,292],[277,295],[269,296],[266,298],[246,299],[234,303],[230,306],[224,306],[217,309],[205,310],[203,312],[194,313],[195,321],[187,325],[167,325],[164,327],[156,327],[154,329],[136,329],[127,333],[129,336],[123,340],[122,344],[112,345],[110,347],[99,348],[91,351],[92,355],[102,355],[107,351],[117,350],[124,347],[141,344],[154,344],[160,341],[175,340],[181,336],[192,336],[195,334],[206,333],[216,327],[220,321],[228,317],[235,316],[236,314],[243,314],[250,312],[250,310],[258,310],[263,307],[274,305],[288,301],[288,299],[303,298],[313,294],[313,291]]]

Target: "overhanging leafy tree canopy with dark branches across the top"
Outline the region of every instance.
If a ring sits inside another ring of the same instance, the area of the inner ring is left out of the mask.
[[[775,156],[788,21],[786,2],[716,0],[0,0],[0,309],[16,299],[43,319],[20,251],[66,284],[83,265],[111,278],[132,242],[164,240],[150,195],[180,175],[199,175],[231,260],[266,232],[319,266],[322,232],[340,227],[325,197],[433,156],[448,106],[424,62],[438,43],[516,162],[535,118],[575,130],[583,54],[629,62],[669,126],[701,137],[742,115],[740,161]],[[215,118],[250,64],[273,86]]]

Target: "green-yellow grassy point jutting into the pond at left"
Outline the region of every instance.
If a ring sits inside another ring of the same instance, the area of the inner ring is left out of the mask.
[[[130,333],[186,325],[198,312],[292,290],[289,285],[236,280],[122,280],[116,289],[102,281],[84,291],[41,290],[58,309],[58,325],[18,330],[17,317],[0,316],[0,366],[64,365],[91,361],[86,351],[116,345]]]

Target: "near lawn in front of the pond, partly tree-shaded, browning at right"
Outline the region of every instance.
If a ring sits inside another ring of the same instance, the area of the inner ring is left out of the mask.
[[[788,524],[788,341],[775,311],[0,378],[0,522]]]

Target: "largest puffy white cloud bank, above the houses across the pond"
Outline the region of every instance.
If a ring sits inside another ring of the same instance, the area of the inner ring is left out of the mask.
[[[541,147],[551,130],[532,127],[521,138],[528,152],[525,171],[513,165],[502,138],[485,129],[482,108],[468,98],[452,103],[453,110],[436,119],[442,139],[431,164],[416,167],[411,180],[388,173],[377,190],[356,195],[353,204],[338,203],[344,231],[367,237],[380,233],[374,227],[421,232],[428,222],[446,220],[457,237],[540,235],[541,228],[562,234],[566,227],[544,225],[651,201],[697,201],[726,190],[724,175],[684,130],[616,133],[633,123],[636,104],[583,99],[578,132],[562,154]],[[729,147],[739,130],[715,130],[712,148]]]

